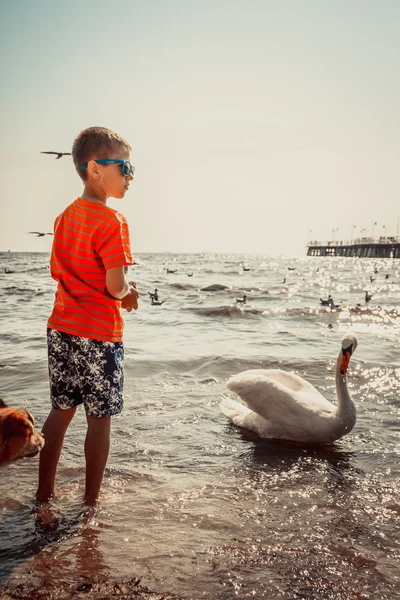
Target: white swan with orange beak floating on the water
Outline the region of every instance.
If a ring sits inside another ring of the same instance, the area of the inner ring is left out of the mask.
[[[350,356],[356,347],[354,334],[343,337],[336,362],[337,406],[294,373],[254,369],[227,382],[228,389],[246,406],[224,398],[220,408],[232,423],[264,438],[330,444],[349,433],[356,422],[356,407],[346,383]]]

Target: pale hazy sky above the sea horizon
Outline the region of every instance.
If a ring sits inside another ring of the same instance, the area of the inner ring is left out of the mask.
[[[396,235],[398,0],[0,0],[0,250],[49,251],[69,152],[132,145],[134,253]],[[375,225],[376,223],[376,225]]]

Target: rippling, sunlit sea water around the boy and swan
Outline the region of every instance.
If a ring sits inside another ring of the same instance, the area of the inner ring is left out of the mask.
[[[113,419],[99,507],[82,506],[80,409],[49,505],[34,503],[38,457],[0,471],[1,583],[138,577],[186,598],[399,598],[400,261],[136,260],[125,409]],[[48,261],[0,255],[0,396],[29,409],[39,428],[49,411]],[[340,308],[321,305],[328,294]],[[349,330],[359,342],[348,372],[357,423],[342,440],[277,444],[220,412],[228,377],[251,368],[294,371],[334,402]]]

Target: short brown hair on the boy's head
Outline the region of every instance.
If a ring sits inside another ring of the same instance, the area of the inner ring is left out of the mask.
[[[88,127],[75,138],[72,146],[72,160],[79,177],[86,181],[87,169],[81,166],[99,158],[112,158],[112,154],[124,148],[131,151],[131,145],[122,136],[106,127]]]

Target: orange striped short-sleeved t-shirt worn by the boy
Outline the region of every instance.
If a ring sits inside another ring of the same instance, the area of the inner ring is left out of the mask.
[[[51,276],[58,281],[50,329],[105,342],[122,340],[121,301],[106,287],[106,269],[132,264],[127,220],[77,198],[54,224]]]

